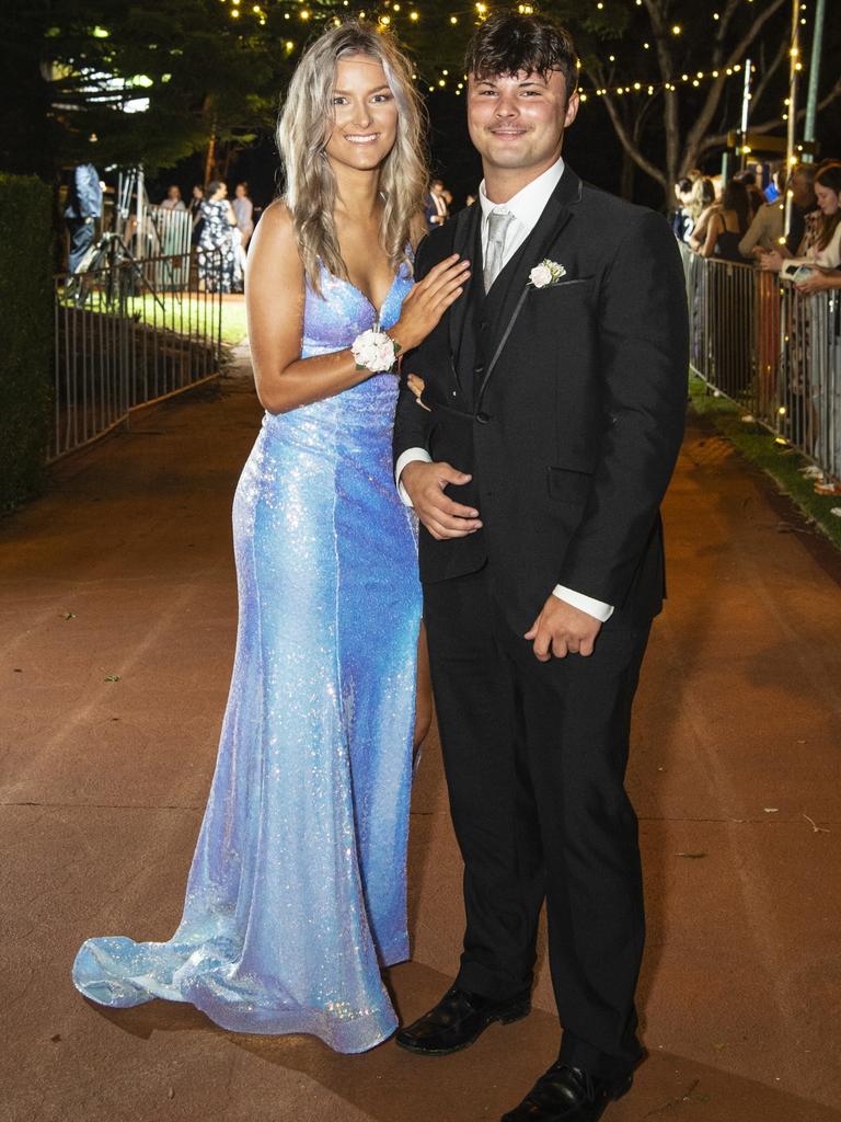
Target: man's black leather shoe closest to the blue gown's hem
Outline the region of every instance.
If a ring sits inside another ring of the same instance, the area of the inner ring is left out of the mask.
[[[528,991],[509,1001],[492,1001],[453,986],[428,1013],[400,1029],[397,1043],[422,1056],[449,1056],[469,1047],[489,1024],[510,1024],[532,1011]]]

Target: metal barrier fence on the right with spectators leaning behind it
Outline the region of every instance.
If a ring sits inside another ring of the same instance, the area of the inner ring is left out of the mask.
[[[681,251],[693,370],[841,478],[841,292]]]

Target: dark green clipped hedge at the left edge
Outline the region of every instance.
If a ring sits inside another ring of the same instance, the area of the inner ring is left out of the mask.
[[[0,175],[0,512],[37,490],[53,359],[52,192]]]

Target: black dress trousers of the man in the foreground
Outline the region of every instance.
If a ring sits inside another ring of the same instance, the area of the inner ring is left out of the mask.
[[[464,859],[458,984],[499,1000],[527,988],[545,899],[561,1056],[625,1070],[640,1052],[645,937],[625,770],[650,625],[602,629],[590,657],[540,663],[503,620],[489,565],[425,585],[424,617]]]

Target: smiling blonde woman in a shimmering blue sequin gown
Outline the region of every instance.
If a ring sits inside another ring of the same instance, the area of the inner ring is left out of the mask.
[[[249,260],[267,412],[233,507],[240,618],[216,770],[172,939],[78,951],[73,980],[103,1005],[188,1001],[227,1029],[343,1052],[396,1028],[380,969],[408,956],[420,588],[391,467],[397,378],[349,348],[377,319],[416,346],[465,275],[451,260],[412,289],[415,96],[407,62],[359,25],[323,36],[293,80],[286,203]]]

